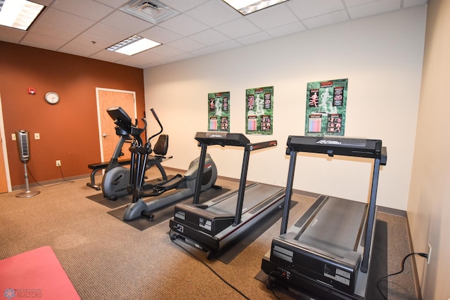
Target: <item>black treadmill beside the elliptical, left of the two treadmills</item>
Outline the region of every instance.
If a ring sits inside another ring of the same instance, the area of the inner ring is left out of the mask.
[[[236,146],[244,148],[239,189],[225,193],[198,204],[199,183],[202,172],[198,172],[193,204],[176,204],[174,217],[169,226],[171,239],[179,239],[202,249],[209,259],[226,244],[245,233],[251,226],[283,204],[285,188],[264,183],[246,185],[250,152],[274,147],[276,141],[250,143],[242,133],[198,132],[195,140],[201,145],[200,166],[202,169],[208,145]]]

